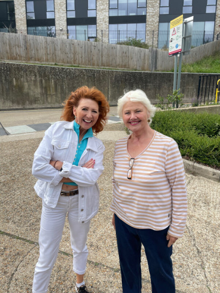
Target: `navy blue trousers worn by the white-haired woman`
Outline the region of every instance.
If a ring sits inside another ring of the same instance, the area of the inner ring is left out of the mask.
[[[141,293],[141,243],[147,256],[152,293],[175,293],[171,260],[167,247],[168,228],[160,231],[136,229],[115,218],[115,230],[121,268],[123,293]]]

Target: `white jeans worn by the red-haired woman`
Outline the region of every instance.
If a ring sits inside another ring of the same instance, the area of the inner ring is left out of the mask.
[[[86,241],[90,221],[78,223],[78,195],[60,196],[55,208],[46,206],[43,200],[39,234],[40,256],[34,272],[33,293],[47,292],[50,274],[59,251],[66,214],[73,251],[73,271],[78,274],[84,274],[86,271],[88,256]]]

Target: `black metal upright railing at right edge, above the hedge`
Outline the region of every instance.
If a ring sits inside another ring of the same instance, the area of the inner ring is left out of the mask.
[[[200,75],[198,79],[198,105],[220,103],[220,75]]]

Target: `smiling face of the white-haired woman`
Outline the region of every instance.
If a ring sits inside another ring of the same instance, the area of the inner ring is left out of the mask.
[[[125,126],[134,132],[148,126],[150,114],[142,103],[128,101],[122,109],[122,117]]]

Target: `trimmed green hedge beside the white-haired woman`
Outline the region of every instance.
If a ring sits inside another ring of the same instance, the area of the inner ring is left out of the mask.
[[[180,110],[156,112],[151,127],[172,137],[183,157],[220,167],[220,116]]]

